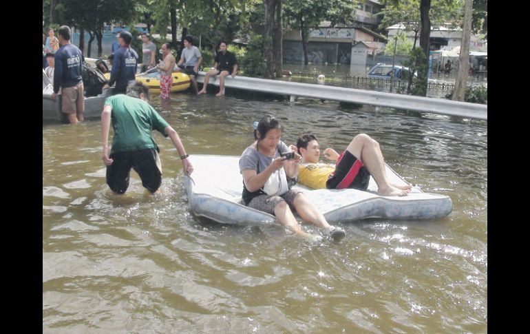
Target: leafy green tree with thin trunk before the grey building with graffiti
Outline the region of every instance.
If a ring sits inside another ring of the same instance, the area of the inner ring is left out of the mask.
[[[352,22],[355,8],[357,1],[352,0],[284,0],[286,23],[300,30],[304,64],[308,64],[306,45],[310,32],[319,28],[321,21],[329,21],[331,26]]]

